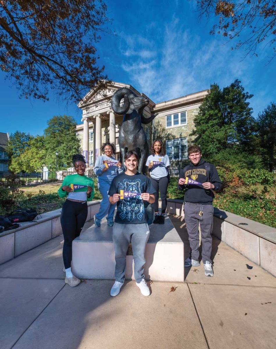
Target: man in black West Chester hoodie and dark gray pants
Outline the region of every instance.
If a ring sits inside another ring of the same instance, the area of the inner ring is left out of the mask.
[[[184,195],[185,223],[191,246],[191,256],[184,266],[199,266],[199,224],[201,229],[202,262],[206,276],[214,276],[212,269],[212,225],[214,190],[220,190],[222,182],[214,165],[201,159],[201,148],[188,148],[190,164],[180,171],[178,188],[186,188]]]

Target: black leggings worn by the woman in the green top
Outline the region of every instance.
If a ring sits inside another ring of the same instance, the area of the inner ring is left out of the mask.
[[[64,236],[62,258],[65,269],[71,267],[72,242],[80,236],[88,213],[87,202],[66,200],[62,206],[60,223]]]

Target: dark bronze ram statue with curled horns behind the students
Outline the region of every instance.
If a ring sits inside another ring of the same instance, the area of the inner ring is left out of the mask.
[[[120,101],[124,98],[124,105]],[[116,114],[124,115],[119,131],[119,147],[124,161],[128,150],[135,150],[140,157],[138,171],[146,174],[146,161],[149,156],[149,146],[142,124],[149,124],[157,114],[144,117],[143,110],[149,104],[149,99],[136,95],[129,88],[117,90],[111,99],[111,107]]]

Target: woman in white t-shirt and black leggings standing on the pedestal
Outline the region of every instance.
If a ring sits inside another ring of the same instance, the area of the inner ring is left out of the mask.
[[[163,142],[156,139],[150,148],[151,155],[147,158],[146,166],[149,168],[150,181],[154,186],[156,193],[155,202],[153,204],[155,211],[155,219],[153,223],[164,224],[165,212],[167,208],[167,188],[169,185],[169,166],[170,160],[166,155]],[[159,215],[158,200],[159,191],[161,197],[161,215]]]

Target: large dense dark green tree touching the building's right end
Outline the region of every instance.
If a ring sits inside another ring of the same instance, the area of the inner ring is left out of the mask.
[[[201,146],[204,157],[225,149],[254,153],[256,125],[247,101],[252,96],[239,80],[222,90],[218,84],[210,86],[190,134],[195,136],[194,143]]]

